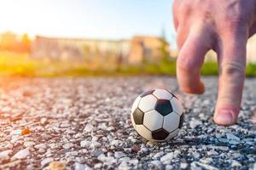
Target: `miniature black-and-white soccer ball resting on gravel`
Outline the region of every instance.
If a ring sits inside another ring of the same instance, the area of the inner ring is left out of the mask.
[[[140,94],[131,107],[131,122],[144,139],[166,141],[183,126],[183,108],[177,97],[164,89]]]

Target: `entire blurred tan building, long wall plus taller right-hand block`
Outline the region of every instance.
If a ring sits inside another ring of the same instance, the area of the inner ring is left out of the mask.
[[[160,59],[161,45],[162,40],[157,37],[133,37],[119,41],[36,37],[32,43],[32,57],[61,60],[112,58],[138,64],[144,59]]]

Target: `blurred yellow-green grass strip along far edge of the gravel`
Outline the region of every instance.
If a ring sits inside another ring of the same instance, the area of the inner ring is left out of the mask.
[[[247,77],[256,76],[256,64],[248,64]],[[0,54],[0,76],[18,77],[97,77],[133,75],[176,75],[176,62],[166,60],[141,65],[117,65],[111,62],[86,63],[32,59],[27,54]],[[207,62],[201,68],[203,76],[217,76],[218,64]]]

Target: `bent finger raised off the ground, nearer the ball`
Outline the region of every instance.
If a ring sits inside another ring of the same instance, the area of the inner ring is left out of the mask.
[[[183,92],[189,94],[203,94],[205,91],[200,70],[205,54],[211,48],[211,34],[207,28],[200,28],[198,25],[190,29],[177,57],[177,82]]]

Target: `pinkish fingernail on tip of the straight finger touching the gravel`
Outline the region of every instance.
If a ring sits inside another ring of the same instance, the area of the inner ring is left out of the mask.
[[[233,112],[230,110],[219,110],[215,117],[215,122],[219,125],[231,125],[234,124]]]

